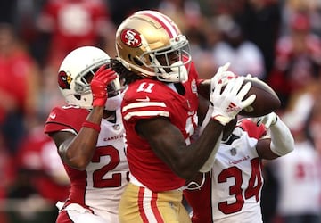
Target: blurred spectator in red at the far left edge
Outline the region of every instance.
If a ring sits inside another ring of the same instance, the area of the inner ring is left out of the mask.
[[[37,107],[37,63],[15,36],[13,27],[0,24],[0,131],[12,153]]]

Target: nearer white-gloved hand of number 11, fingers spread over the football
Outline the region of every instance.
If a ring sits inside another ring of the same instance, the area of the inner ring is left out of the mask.
[[[232,78],[227,82],[223,92],[223,84],[218,84],[214,91],[210,93],[210,103],[214,106],[211,114],[212,119],[218,120],[222,125],[226,125],[235,119],[236,115],[243,108],[254,102],[256,95],[250,95],[243,100],[244,96],[249,93],[251,82],[246,83],[243,87],[244,77]]]

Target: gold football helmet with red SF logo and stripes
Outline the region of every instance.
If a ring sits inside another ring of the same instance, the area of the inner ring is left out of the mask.
[[[116,32],[116,51],[128,70],[144,78],[165,82],[188,78],[189,43],[175,22],[161,12],[139,11],[123,21]]]

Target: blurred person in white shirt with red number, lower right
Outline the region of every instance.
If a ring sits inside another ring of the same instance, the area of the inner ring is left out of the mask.
[[[307,137],[304,123],[291,120],[295,149],[287,156],[273,161],[279,196],[277,215],[284,223],[321,222],[320,156]]]

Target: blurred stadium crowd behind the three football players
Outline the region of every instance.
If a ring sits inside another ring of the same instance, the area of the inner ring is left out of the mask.
[[[321,222],[309,219],[321,213],[320,0],[2,0],[0,222],[54,222],[54,204],[69,184],[43,133],[51,108],[64,103],[58,64],[81,45],[116,55],[117,26],[142,9],[177,22],[201,78],[231,62],[236,74],[250,73],[276,90],[282,101],[276,112],[296,148],[264,164],[264,222],[281,223],[280,216]]]

